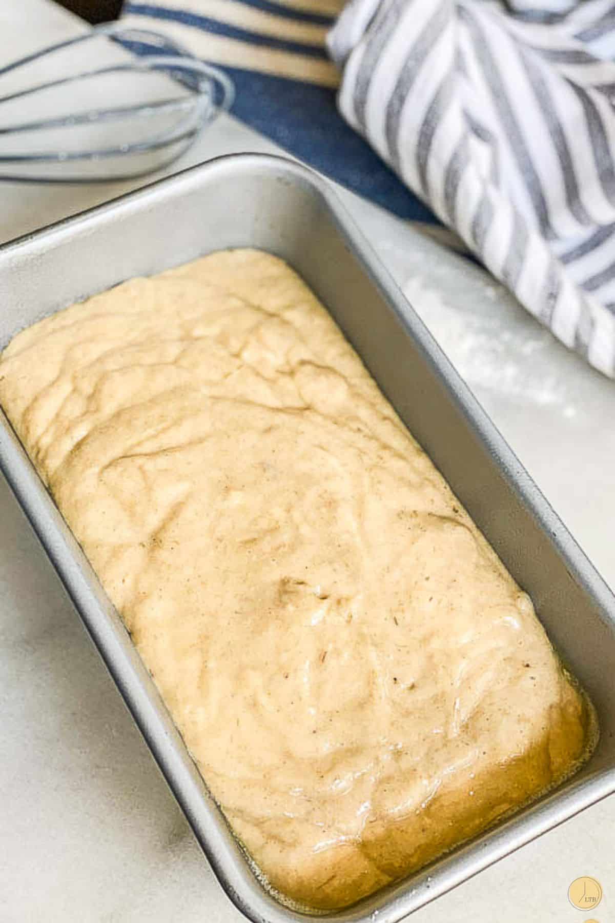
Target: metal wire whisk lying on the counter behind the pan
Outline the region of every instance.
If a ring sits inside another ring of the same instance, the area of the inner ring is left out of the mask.
[[[106,59],[80,66],[84,46],[100,39],[111,40]],[[24,86],[28,68],[40,76]],[[0,96],[0,180],[14,182],[117,182],[163,169],[234,96],[218,67],[159,32],[121,23],[22,57],[0,67],[0,78],[14,85]]]

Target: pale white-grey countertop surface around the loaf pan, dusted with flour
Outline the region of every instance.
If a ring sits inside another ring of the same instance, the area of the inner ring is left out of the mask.
[[[48,0],[4,3],[0,61],[78,28]],[[276,149],[225,117],[173,169],[237,150]],[[0,185],[0,240],[126,187]],[[567,353],[481,270],[383,211],[343,198],[615,586],[615,384]],[[243,919],[215,881],[2,478],[0,701],[0,923]],[[584,874],[603,886],[595,915],[606,923],[615,914],[614,854],[610,797],[424,907],[413,923],[574,923],[584,916],[566,893]]]

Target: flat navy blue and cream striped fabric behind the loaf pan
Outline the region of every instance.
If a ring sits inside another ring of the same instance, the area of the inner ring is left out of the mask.
[[[126,0],[126,26],[166,33],[235,84],[232,114],[343,186],[460,246],[337,111],[325,48],[344,0]]]

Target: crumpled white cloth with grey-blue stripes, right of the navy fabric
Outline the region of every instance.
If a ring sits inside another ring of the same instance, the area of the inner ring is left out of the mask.
[[[350,0],[328,48],[349,124],[615,377],[613,0]]]

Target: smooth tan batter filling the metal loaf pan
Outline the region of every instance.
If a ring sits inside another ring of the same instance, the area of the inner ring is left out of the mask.
[[[529,598],[277,258],[42,320],[0,402],[279,892],[348,905],[583,758]]]

